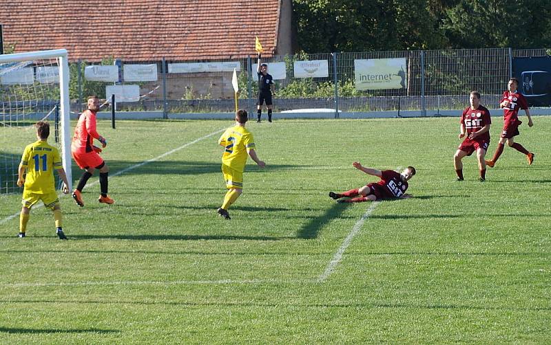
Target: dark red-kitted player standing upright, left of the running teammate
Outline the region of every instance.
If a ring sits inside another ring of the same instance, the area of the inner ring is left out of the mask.
[[[461,115],[459,139],[464,137],[465,134],[467,134],[467,137],[453,155],[453,165],[457,173],[457,181],[463,181],[463,162],[461,162],[461,159],[477,151],[480,181],[486,181],[484,156],[490,145],[492,119],[490,118],[490,111],[480,104],[480,93],[472,91],[469,100],[470,107],[467,107]]]

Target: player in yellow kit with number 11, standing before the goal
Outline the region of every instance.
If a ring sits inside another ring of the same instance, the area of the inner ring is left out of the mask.
[[[54,211],[54,219],[56,224],[56,234],[60,240],[66,240],[67,237],[63,234],[61,227],[61,208],[59,207],[59,199],[56,194],[54,182],[54,169],[57,170],[59,177],[63,181],[63,192],[67,194],[67,177],[65,170],[61,165],[61,157],[59,151],[54,146],[48,144],[48,136],[50,136],[50,124],[48,122],[39,121],[35,124],[37,128],[37,142],[27,145],[21,164],[19,164],[19,177],[17,178],[17,186],[25,185],[23,189],[23,208],[19,214],[19,237],[25,237],[27,230],[27,222],[29,221],[30,209],[32,206],[41,201],[44,206]],[[23,174],[26,175],[23,177]]]

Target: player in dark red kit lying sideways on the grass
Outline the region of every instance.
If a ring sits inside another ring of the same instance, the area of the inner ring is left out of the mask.
[[[365,168],[360,162],[352,164],[357,170],[362,170],[368,175],[377,176],[381,181],[377,183],[368,183],[362,188],[356,188],[337,194],[329,192],[329,197],[339,199],[339,203],[362,203],[364,201],[376,201],[382,199],[408,198],[409,194],[404,194],[408,189],[408,180],[415,175],[415,168],[408,166],[401,174],[394,170],[376,170]],[[352,199],[341,199],[349,197]]]

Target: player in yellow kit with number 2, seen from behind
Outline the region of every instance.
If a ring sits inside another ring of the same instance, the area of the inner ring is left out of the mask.
[[[247,120],[249,120],[247,111],[238,110],[236,112],[236,125],[227,129],[218,140],[218,144],[225,148],[222,155],[222,173],[228,191],[224,197],[222,207],[218,208],[217,212],[225,219],[231,219],[228,208],[241,195],[243,171],[245,170],[245,163],[247,163],[247,156],[251,156],[260,168],[266,166],[256,155],[253,133],[245,129]]]

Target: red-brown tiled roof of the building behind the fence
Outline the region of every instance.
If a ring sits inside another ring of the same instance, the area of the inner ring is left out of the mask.
[[[275,54],[281,0],[0,0],[15,52],[61,49],[70,60],[214,60]]]

